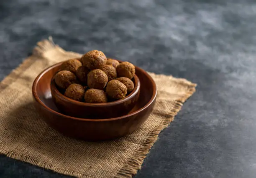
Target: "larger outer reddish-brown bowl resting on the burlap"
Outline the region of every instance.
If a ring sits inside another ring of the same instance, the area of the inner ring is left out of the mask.
[[[38,113],[44,121],[60,133],[83,140],[106,140],[127,135],[136,130],[148,118],[156,101],[156,84],[141,68],[136,75],[141,82],[141,92],[134,108],[126,115],[108,119],[75,118],[62,114],[51,97],[51,78],[58,71],[55,64],[40,73],[32,86],[32,94]]]

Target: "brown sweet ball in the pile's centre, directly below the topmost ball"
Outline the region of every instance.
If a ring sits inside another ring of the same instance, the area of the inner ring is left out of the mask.
[[[89,88],[103,90],[108,83],[108,75],[100,69],[91,70],[87,75]]]

